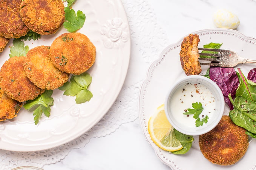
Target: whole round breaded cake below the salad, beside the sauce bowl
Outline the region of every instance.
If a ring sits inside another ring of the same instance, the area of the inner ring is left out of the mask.
[[[214,164],[235,164],[248,148],[248,135],[245,132],[246,130],[235,125],[229,116],[222,116],[212,131],[199,136],[201,152]]]

